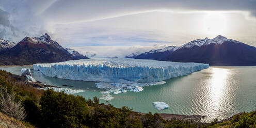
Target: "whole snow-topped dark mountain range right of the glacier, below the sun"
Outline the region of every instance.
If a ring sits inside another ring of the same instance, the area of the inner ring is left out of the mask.
[[[151,50],[132,58],[201,62],[211,66],[256,66],[256,47],[219,35],[213,39],[197,39],[180,47]]]

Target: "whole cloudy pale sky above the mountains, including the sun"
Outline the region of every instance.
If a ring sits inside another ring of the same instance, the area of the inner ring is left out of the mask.
[[[44,33],[98,57],[217,35],[256,46],[256,0],[0,1],[0,38],[18,43]]]

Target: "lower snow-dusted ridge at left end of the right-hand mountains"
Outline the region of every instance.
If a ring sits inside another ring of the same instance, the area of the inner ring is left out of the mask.
[[[149,52],[141,53],[134,57],[135,59],[155,59],[161,60],[167,57],[169,54],[177,50],[178,46],[167,46],[164,49],[150,50]]]

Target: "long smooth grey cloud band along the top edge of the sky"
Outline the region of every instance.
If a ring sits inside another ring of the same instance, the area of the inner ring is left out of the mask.
[[[77,23],[95,21],[108,18],[121,17],[123,15],[150,12],[150,11],[216,11],[237,10],[249,11],[253,15],[256,11],[256,1],[241,0],[216,0],[216,1],[57,1],[43,12],[47,19],[57,23]],[[77,17],[79,15],[79,17]],[[254,15],[255,16],[255,15]]]

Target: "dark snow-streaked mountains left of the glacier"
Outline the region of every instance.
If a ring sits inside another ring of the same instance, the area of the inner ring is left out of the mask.
[[[47,34],[25,37],[18,44],[3,39],[0,41],[0,65],[31,65],[88,58],[75,50],[65,49]]]

